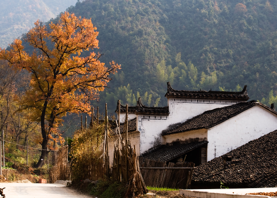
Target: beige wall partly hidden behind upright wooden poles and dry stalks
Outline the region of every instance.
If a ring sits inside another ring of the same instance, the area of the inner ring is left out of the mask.
[[[114,146],[118,143],[118,137],[117,136],[113,136],[110,138],[109,140],[109,144],[108,144],[108,149],[109,149],[109,159],[110,159],[110,165],[113,164],[113,151],[114,151]],[[134,148],[134,145],[136,146],[136,150],[137,150],[137,155],[140,155],[139,152],[139,131],[135,131],[135,132],[131,132],[130,134],[128,134],[128,140],[130,140],[131,142],[131,146]],[[124,139],[125,141],[125,139]]]

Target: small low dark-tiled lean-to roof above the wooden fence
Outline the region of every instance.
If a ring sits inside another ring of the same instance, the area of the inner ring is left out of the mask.
[[[207,141],[187,143],[187,144],[173,144],[172,146],[161,145],[153,150],[149,150],[140,156],[146,159],[152,159],[156,161],[170,161],[179,157],[195,148],[206,145]]]

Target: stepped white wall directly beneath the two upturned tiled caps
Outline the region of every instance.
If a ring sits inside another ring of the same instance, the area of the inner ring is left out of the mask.
[[[169,125],[185,122],[207,110],[221,108],[232,103],[237,103],[237,101],[168,99],[170,112],[168,116],[144,115],[143,117],[143,115],[138,115],[137,130],[140,132],[140,153],[153,148],[158,143],[166,144],[165,138],[161,134]]]

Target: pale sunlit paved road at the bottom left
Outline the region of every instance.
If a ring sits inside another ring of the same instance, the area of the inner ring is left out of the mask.
[[[0,183],[6,198],[93,198],[62,184]]]

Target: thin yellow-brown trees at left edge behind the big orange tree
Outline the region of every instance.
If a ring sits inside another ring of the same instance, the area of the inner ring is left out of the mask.
[[[28,89],[28,74],[20,72],[0,61],[0,132],[4,131],[5,140],[18,145],[26,145],[26,138],[36,140],[38,123],[29,119],[30,110],[18,111],[24,90]],[[22,141],[23,140],[23,141]]]

